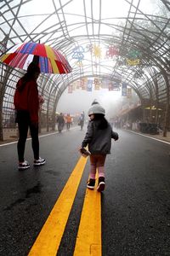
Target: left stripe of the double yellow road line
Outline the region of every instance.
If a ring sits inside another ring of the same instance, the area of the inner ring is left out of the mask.
[[[29,256],[55,256],[57,254],[87,160],[88,158],[83,157],[78,160],[77,166],[71,173],[58,201],[37,236],[37,240],[31,247]]]

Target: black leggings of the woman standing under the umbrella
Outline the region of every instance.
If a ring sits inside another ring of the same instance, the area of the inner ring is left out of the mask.
[[[39,159],[39,139],[38,139],[38,125],[32,125],[30,120],[30,114],[27,111],[17,111],[16,122],[19,128],[19,141],[17,144],[18,158],[20,162],[23,162],[25,148],[26,148],[26,138],[28,133],[28,128],[30,127],[31,133],[31,146],[33,149],[34,159]]]

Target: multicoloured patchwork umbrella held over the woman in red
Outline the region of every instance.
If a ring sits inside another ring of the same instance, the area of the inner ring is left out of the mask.
[[[70,73],[71,66],[58,50],[46,45],[36,43],[16,44],[0,61],[11,67],[27,69],[31,61],[37,61],[41,73]]]

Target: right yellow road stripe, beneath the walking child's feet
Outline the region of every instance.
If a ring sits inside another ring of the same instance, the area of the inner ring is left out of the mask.
[[[86,190],[74,256],[101,256],[101,195],[96,187]]]

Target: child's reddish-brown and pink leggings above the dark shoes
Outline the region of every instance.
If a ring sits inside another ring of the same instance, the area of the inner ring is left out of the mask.
[[[106,154],[90,154],[90,178],[95,178],[97,168],[99,177],[105,177],[105,158]]]

